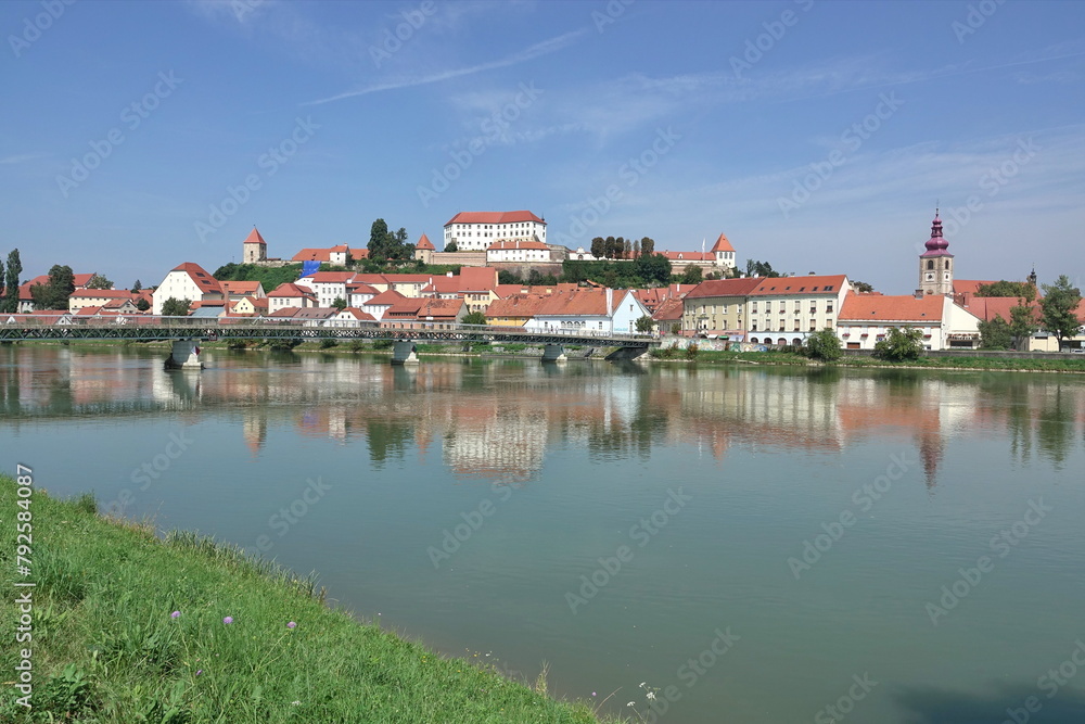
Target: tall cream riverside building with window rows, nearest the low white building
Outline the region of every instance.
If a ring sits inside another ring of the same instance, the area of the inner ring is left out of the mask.
[[[746,303],[749,342],[802,344],[810,332],[835,329],[837,315],[851,288],[842,274],[762,279]]]

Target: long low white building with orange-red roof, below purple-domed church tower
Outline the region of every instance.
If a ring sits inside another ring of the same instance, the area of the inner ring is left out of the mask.
[[[873,350],[891,327],[923,332],[923,347],[972,347],[980,319],[944,294],[891,296],[848,294],[837,319],[837,335],[848,350]]]

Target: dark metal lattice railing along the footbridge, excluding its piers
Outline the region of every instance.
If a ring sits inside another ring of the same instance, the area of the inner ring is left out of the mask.
[[[261,329],[282,330],[285,328],[296,328],[305,330],[335,330],[335,329],[366,329],[372,330],[374,334],[387,332],[390,336],[401,336],[404,332],[410,331],[447,331],[464,332],[480,335],[500,334],[502,336],[523,336],[525,339],[537,336],[569,336],[569,338],[596,338],[609,340],[643,340],[655,339],[653,334],[644,333],[622,333],[608,332],[602,329],[588,329],[575,326],[553,326],[538,329],[525,329],[515,326],[500,325],[463,325],[460,322],[435,321],[421,319],[404,320],[379,320],[370,321],[363,319],[294,319],[267,318],[267,317],[163,317],[153,315],[117,315],[111,317],[97,317],[71,314],[56,315],[26,315],[14,314],[0,316],[0,323],[9,328],[20,329],[65,329],[65,328],[141,328],[155,330],[191,330],[194,336],[214,334],[216,329],[244,329],[253,330],[254,335],[259,335]]]

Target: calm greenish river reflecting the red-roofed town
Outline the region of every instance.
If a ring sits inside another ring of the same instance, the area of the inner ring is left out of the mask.
[[[602,711],[1085,721],[1082,377],[164,356],[0,345],[0,462]]]

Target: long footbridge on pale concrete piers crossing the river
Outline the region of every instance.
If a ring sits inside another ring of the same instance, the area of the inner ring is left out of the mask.
[[[418,342],[511,342],[544,348],[544,361],[565,358],[567,345],[617,347],[625,358],[637,357],[660,342],[651,334],[620,334],[585,327],[523,327],[461,325],[423,320],[363,321],[357,319],[267,319],[251,317],[155,317],[117,315],[79,317],[0,315],[0,342],[28,340],[174,341],[167,364],[200,368],[202,340],[388,340],[393,364],[417,364]]]

